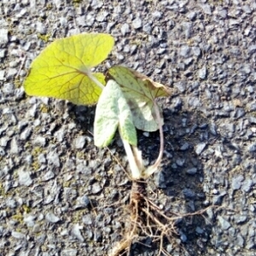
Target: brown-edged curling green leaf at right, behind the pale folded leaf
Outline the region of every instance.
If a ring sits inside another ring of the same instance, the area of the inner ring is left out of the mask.
[[[157,131],[159,125],[154,100],[160,96],[170,96],[171,91],[165,85],[127,67],[111,67],[106,76],[107,81],[108,79],[113,79],[119,84],[131,108],[133,123],[137,129]],[[163,124],[162,118],[161,122]]]

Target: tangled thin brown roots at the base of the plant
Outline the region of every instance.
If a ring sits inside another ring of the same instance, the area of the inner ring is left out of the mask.
[[[132,243],[142,241],[143,238],[150,237],[153,242],[159,242],[159,252],[166,256],[171,256],[164,249],[164,239],[173,244],[173,236],[178,236],[175,224],[177,219],[194,215],[201,215],[206,209],[178,215],[172,212],[172,217],[167,216],[152,201],[148,200],[144,181],[133,181],[130,199],[130,219],[125,229],[125,235],[114,247],[110,256],[120,256],[130,254]]]

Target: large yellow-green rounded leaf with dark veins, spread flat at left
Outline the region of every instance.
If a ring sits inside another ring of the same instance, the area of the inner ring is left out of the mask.
[[[84,33],[55,40],[32,61],[24,83],[26,94],[78,105],[96,103],[105,77],[91,73],[90,68],[104,61],[112,48],[113,37],[108,34]]]

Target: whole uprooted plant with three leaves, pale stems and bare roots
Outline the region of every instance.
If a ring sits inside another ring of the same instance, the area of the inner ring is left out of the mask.
[[[130,221],[111,255],[129,250],[132,242],[145,236],[160,241],[160,253],[168,255],[163,239],[171,239],[176,232],[174,223],[178,217],[161,212],[148,199],[146,185],[148,177],[158,170],[164,149],[163,118],[155,99],[171,93],[163,84],[127,67],[111,67],[106,76],[92,73],[91,68],[104,61],[112,48],[113,38],[108,34],[80,34],[55,40],[32,62],[24,87],[28,95],[52,96],[79,105],[98,102],[95,144],[100,148],[108,146],[118,129],[132,180]],[[153,166],[143,165],[136,128],[160,130],[160,153]]]

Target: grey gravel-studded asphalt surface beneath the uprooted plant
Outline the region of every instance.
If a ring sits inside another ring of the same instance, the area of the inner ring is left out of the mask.
[[[108,32],[115,47],[99,71],[122,64],[175,91],[160,100],[154,202],[180,214],[222,207],[181,218],[166,251],[254,255],[255,10],[250,0],[0,2],[1,253],[108,255],[123,234],[131,182],[122,143],[94,146],[95,107],[26,96],[21,85],[55,38]],[[138,141],[153,163],[158,132],[138,131]],[[144,243],[131,255],[157,255],[159,244]]]

